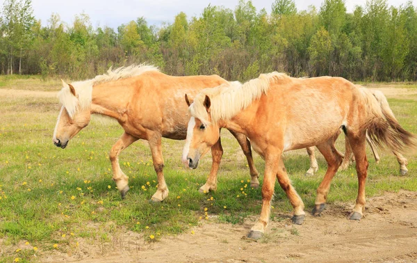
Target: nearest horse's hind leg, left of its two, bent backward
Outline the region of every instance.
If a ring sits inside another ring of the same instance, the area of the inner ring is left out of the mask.
[[[325,177],[317,189],[317,197],[315,202],[316,206],[313,208],[312,212],[314,216],[319,216],[323,209],[325,209],[325,203],[327,200],[327,193],[329,193],[330,183],[332,182],[332,179],[343,160],[343,155],[334,147],[333,139],[329,139],[325,143],[317,145],[317,148],[320,150],[321,154],[323,154],[327,161],[327,170]]]

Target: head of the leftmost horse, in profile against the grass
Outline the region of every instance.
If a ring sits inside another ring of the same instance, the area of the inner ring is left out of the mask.
[[[90,109],[80,105],[79,95],[74,86],[63,81],[63,89],[58,93],[61,104],[52,141],[57,147],[67,147],[68,141],[88,125]]]

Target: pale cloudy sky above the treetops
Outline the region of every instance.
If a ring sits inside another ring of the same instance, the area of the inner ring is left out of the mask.
[[[256,10],[265,8],[270,13],[274,0],[252,0]],[[412,0],[417,6],[417,0]],[[0,0],[1,7],[4,0]],[[400,6],[407,0],[388,0],[389,5]],[[211,3],[212,6],[224,6],[234,10],[238,0],[32,0],[33,12],[36,19],[42,20],[42,25],[52,13],[58,13],[61,20],[68,24],[74,22],[74,16],[86,13],[90,16],[93,26],[110,26],[117,28],[137,17],[145,17],[149,24],[160,25],[162,22],[172,23],[175,15],[181,11],[188,19],[201,15],[203,9]],[[322,0],[295,0],[297,10],[306,10],[310,5],[319,10]],[[346,0],[347,12],[352,12],[354,6],[365,6],[366,0]]]

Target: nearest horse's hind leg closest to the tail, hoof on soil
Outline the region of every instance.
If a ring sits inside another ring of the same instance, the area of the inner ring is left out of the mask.
[[[358,196],[356,205],[350,214],[351,220],[359,220],[362,217],[363,209],[365,209],[365,183],[368,175],[368,158],[366,157],[366,134],[359,136],[348,136],[350,146],[356,159],[356,168],[358,175]]]

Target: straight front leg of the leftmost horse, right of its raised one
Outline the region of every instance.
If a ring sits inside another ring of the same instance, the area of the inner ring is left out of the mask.
[[[152,152],[152,161],[154,162],[154,169],[158,177],[158,189],[154,196],[152,196],[153,202],[162,202],[168,196],[168,187],[165,183],[165,177],[163,177],[163,157],[162,157],[162,136],[161,133],[154,132],[149,136],[149,147]]]

